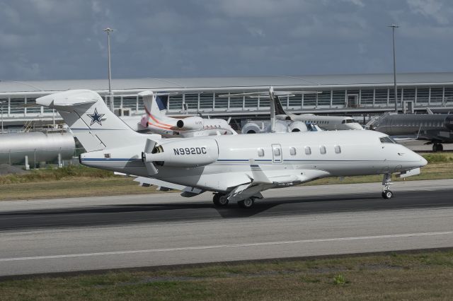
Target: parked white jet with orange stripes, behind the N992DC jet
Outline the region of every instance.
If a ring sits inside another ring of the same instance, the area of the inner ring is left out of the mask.
[[[149,130],[164,137],[199,137],[210,135],[237,134],[224,119],[205,119],[190,116],[182,119],[166,116],[168,93],[153,93],[150,90],[139,93],[143,97],[147,112],[139,123],[139,130]]]

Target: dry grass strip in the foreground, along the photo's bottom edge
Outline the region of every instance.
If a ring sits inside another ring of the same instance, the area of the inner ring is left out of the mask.
[[[451,300],[453,251],[33,276],[4,300]]]

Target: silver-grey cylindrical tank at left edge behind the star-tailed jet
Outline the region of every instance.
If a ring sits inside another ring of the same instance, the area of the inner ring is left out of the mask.
[[[55,162],[58,155],[61,160],[69,160],[74,155],[76,143],[67,132],[0,134],[0,164],[21,164],[28,156],[28,163]]]

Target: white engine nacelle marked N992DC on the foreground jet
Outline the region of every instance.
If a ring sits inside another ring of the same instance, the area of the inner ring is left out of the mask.
[[[156,166],[199,167],[214,163],[219,158],[217,141],[209,138],[187,138],[154,146],[151,153],[143,153],[144,162]]]

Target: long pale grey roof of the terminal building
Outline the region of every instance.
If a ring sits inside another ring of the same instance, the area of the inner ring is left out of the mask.
[[[453,72],[398,73],[398,85],[453,85]],[[243,90],[247,88],[340,88],[393,85],[393,73],[337,74],[315,76],[250,76],[202,78],[128,78],[113,79],[114,91],[131,93],[137,90]],[[0,81],[0,95],[10,93],[49,93],[69,89],[90,89],[106,92],[107,79],[55,81]]]

